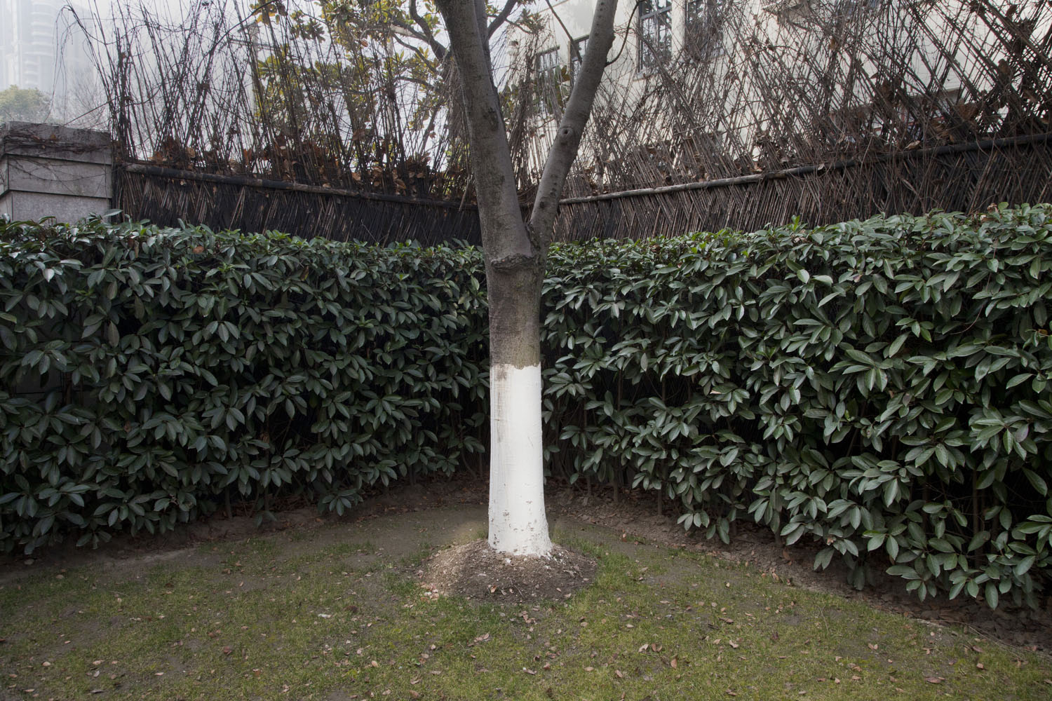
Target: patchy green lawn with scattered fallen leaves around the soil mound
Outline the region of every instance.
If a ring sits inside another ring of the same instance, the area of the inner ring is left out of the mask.
[[[428,599],[427,543],[476,535],[471,519],[436,510],[9,579],[0,698],[1052,696],[1045,658],[576,524],[555,536],[599,560],[589,589]]]

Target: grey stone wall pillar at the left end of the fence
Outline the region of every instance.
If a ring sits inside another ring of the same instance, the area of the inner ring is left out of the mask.
[[[0,217],[76,222],[109,209],[109,135],[55,124],[0,124]]]

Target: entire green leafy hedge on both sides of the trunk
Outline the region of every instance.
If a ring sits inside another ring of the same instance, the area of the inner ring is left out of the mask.
[[[553,247],[549,468],[922,597],[1052,571],[1052,207]],[[0,224],[0,541],[342,512],[483,450],[478,251]]]

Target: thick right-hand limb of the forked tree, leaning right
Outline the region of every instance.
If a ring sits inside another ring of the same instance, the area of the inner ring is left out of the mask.
[[[613,16],[616,9],[618,0],[598,0],[595,3],[591,32],[588,35],[588,47],[585,49],[581,69],[574,77],[570,99],[566,102],[563,120],[555,132],[555,143],[552,144],[548,160],[544,164],[544,173],[538,185],[528,225],[534,245],[542,247],[542,250],[547,247],[551,239],[555,212],[559,209],[559,197],[563,192],[563,184],[566,182],[570,165],[576,158],[581,137],[588,123],[603,70],[606,68],[606,55],[613,45]]]

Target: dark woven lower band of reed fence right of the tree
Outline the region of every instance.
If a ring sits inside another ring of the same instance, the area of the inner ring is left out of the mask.
[[[741,178],[564,200],[557,241],[811,225],[881,212],[1052,200],[1052,135],[955,144]]]

